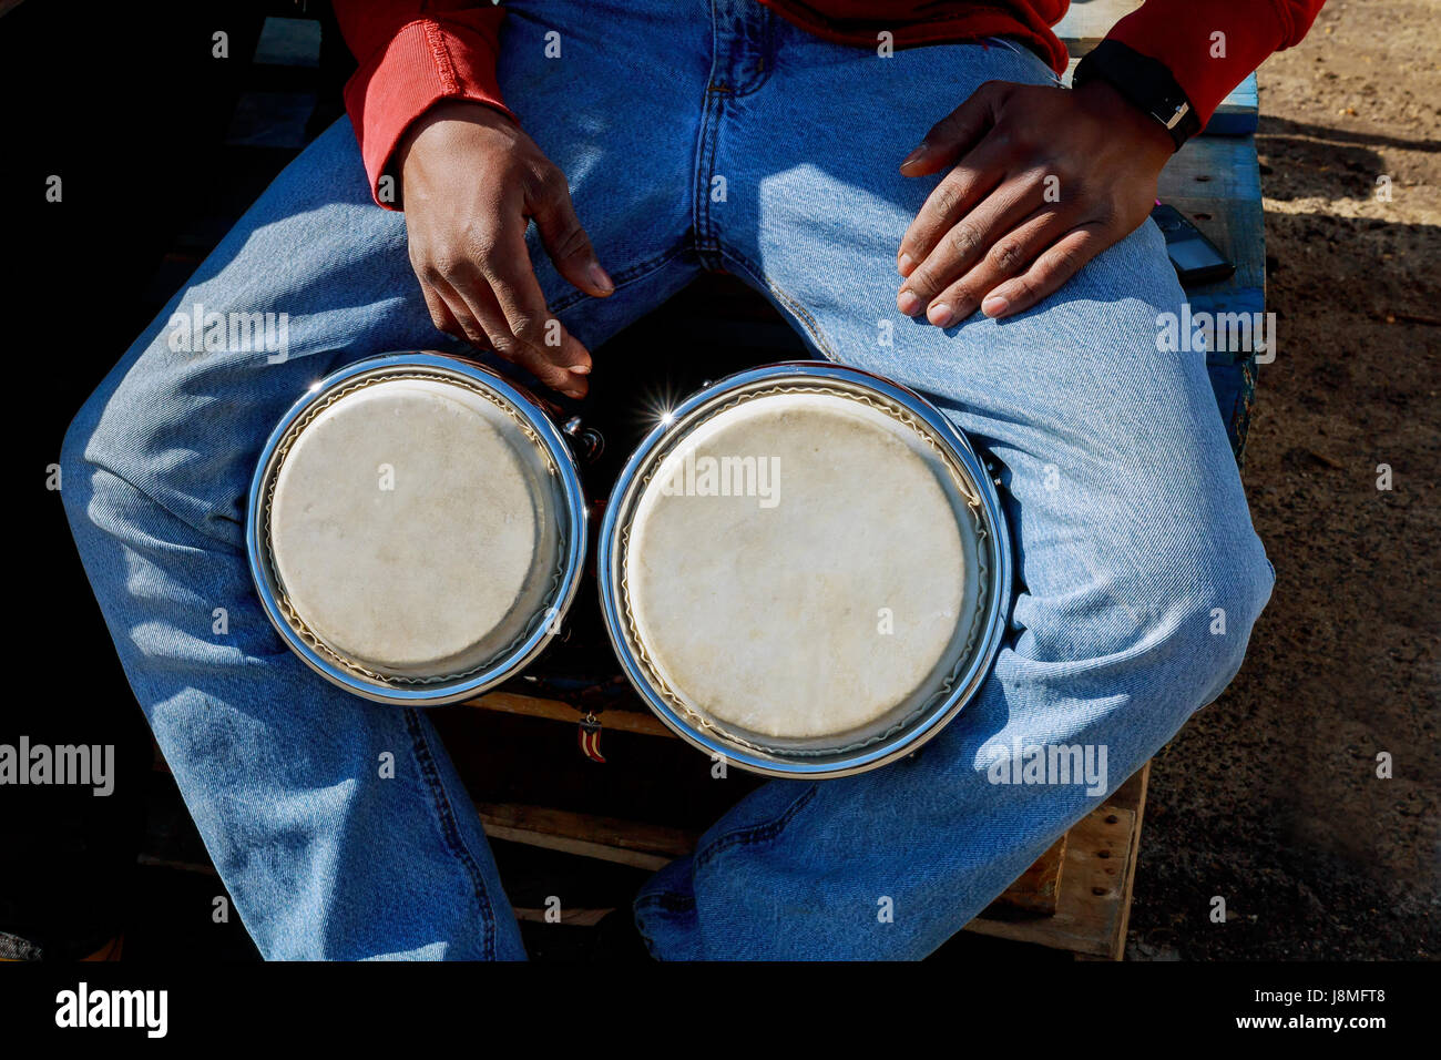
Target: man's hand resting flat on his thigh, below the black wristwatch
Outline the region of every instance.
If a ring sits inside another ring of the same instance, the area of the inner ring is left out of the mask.
[[[905,176],[954,167],[901,241],[896,306],[940,327],[1030,309],[1146,221],[1173,153],[1104,81],[989,81],[901,163]]]

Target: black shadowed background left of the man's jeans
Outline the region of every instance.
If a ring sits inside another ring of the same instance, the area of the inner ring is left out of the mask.
[[[59,495],[45,487],[46,467],[85,398],[297,153],[308,110],[267,138],[236,104],[249,95],[294,111],[307,95],[311,105],[321,98],[327,78],[343,79],[343,69],[251,62],[265,16],[303,16],[300,7],[32,0],[0,17],[0,342],[17,398],[10,453],[22,483],[10,554],[26,568],[13,584],[29,586],[14,626],[20,686],[0,714],[0,740],[115,744],[118,773],[110,798],[6,789],[0,930],[23,933],[48,956],[94,952],[127,920],[163,914],[171,890],[187,884],[135,868],[144,796],[164,779],[151,777],[148,730]],[[216,30],[229,35],[228,59],[212,58]],[[349,63],[343,49],[339,61]],[[331,94],[317,123],[337,112]],[[45,199],[52,175],[63,182],[59,203]],[[213,880],[200,890],[213,893]],[[233,933],[232,952],[254,952],[238,924]]]

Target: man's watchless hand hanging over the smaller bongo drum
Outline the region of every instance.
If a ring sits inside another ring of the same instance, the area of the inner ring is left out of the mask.
[[[398,159],[411,264],[435,326],[585,397],[591,355],[550,314],[526,248],[535,219],[562,277],[595,297],[615,290],[565,175],[516,123],[467,101],[428,110]]]

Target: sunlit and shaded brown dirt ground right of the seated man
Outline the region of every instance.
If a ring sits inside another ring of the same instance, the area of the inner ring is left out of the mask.
[[[1438,55],[1441,1],[1330,0],[1261,68],[1278,353],[1245,477],[1277,588],[1153,767],[1133,959],[1441,955]]]

